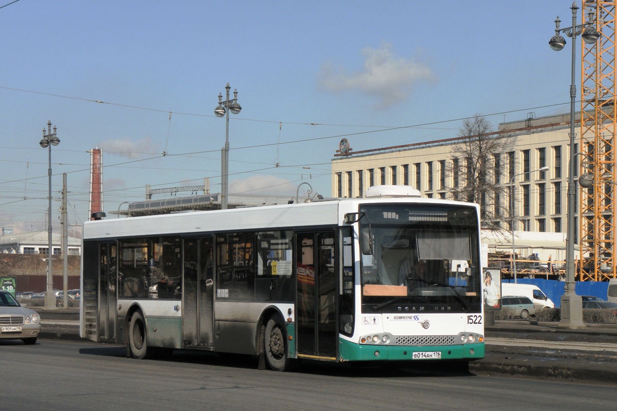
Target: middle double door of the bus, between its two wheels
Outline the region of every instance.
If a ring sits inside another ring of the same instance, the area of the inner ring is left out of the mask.
[[[184,346],[213,348],[212,238],[184,240]]]

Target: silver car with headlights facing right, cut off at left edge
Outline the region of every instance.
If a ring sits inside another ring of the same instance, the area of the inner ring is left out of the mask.
[[[40,331],[38,313],[22,307],[8,291],[0,290],[0,339],[34,344]]]

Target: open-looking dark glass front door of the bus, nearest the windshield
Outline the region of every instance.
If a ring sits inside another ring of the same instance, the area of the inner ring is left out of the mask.
[[[299,357],[336,360],[334,232],[298,233],[296,343]]]

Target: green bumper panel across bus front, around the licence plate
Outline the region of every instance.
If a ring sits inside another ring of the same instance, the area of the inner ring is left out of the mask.
[[[476,360],[484,358],[484,343],[453,346],[379,346],[354,344],[339,340],[341,361],[413,360],[413,352],[441,352],[441,360]]]

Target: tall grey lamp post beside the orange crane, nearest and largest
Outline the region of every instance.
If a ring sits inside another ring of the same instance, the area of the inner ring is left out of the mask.
[[[550,39],[549,46],[560,51],[565,47],[566,40],[559,34],[564,33],[572,38],[572,67],[571,67],[571,84],[570,84],[570,158],[568,166],[568,232],[566,233],[566,286],[565,293],[561,297],[561,321],[558,327],[560,328],[585,328],[582,322],[582,299],[576,295],[575,287],[575,270],[574,270],[574,237],[576,227],[574,226],[574,200],[576,199],[576,187],[574,185],[574,100],[576,99],[576,36],[582,34],[582,39],[587,44],[595,44],[600,37],[600,34],[592,27],[593,15],[589,15],[589,23],[576,25],[576,12],[578,7],[576,2],[572,3],[572,26],[560,28],[561,20],[557,17],[555,20],[555,36]],[[581,117],[582,120],[582,117]]]

